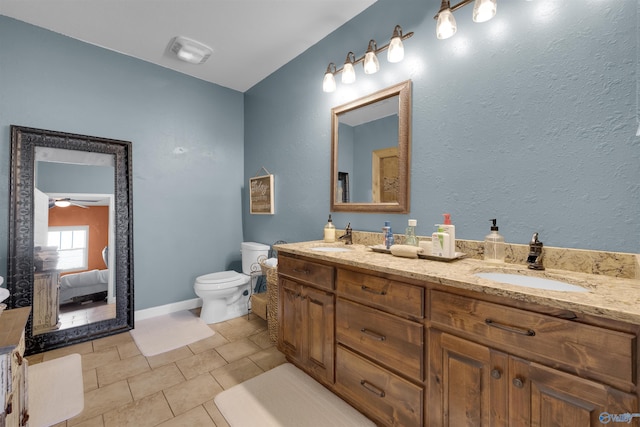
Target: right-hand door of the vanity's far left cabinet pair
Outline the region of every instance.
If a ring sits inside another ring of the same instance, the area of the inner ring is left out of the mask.
[[[307,369],[314,377],[334,383],[334,295],[303,287],[303,348]]]

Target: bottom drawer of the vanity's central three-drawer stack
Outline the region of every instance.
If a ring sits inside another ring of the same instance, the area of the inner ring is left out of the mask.
[[[336,353],[336,391],[381,425],[422,425],[422,387],[340,345]]]

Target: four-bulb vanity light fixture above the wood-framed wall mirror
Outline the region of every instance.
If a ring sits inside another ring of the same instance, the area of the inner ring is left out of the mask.
[[[387,60],[389,62],[400,62],[404,58],[404,46],[402,41],[413,36],[413,32],[402,34],[402,28],[400,25],[396,25],[393,29],[393,35],[391,41],[382,47],[378,47],[375,40],[369,40],[367,46],[367,52],[360,58],[356,59],[353,52],[347,53],[347,59],[344,62],[342,68],[336,69],[336,65],[331,62],[327,66],[324,79],[322,80],[322,90],[324,92],[333,92],[336,90],[335,75],[342,73],[342,83],[349,84],[356,81],[356,71],[354,66],[362,62],[364,66],[365,74],[373,74],[380,69],[380,62],[378,61],[378,54],[389,50],[387,52]]]

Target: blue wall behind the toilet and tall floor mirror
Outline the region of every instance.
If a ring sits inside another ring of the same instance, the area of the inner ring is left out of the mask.
[[[136,309],[240,259],[241,93],[0,16],[1,276],[11,124],[132,142]]]

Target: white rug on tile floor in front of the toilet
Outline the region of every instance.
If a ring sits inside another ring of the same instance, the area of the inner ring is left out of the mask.
[[[213,336],[213,330],[188,310],[164,314],[135,323],[131,335],[146,357]]]

